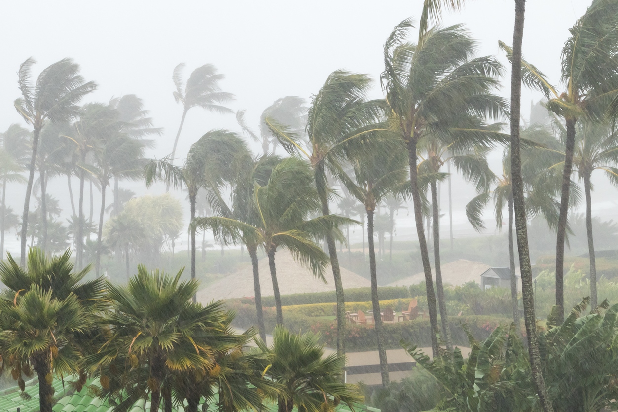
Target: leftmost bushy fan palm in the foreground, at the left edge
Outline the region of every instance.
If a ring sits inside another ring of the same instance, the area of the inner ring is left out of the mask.
[[[74,273],[69,251],[49,257],[38,248],[26,270],[11,254],[0,262],[3,359],[22,391],[23,376],[36,372],[41,412],[52,410],[54,374],[79,376],[80,390],[86,382],[83,356],[95,350],[96,316],[106,309],[103,280],[82,282],[88,270]]]

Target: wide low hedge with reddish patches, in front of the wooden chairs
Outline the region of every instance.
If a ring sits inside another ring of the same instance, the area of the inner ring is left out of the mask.
[[[229,309],[236,312],[234,325],[240,328],[248,328],[257,324],[255,304],[227,302]],[[276,312],[274,307],[264,308],[264,321],[266,332],[270,333],[276,324]],[[494,328],[500,324],[508,324],[507,317],[488,315],[464,315],[449,317],[451,324],[452,340],[455,345],[468,346],[468,338],[462,328],[466,324],[468,330],[476,340],[484,340],[489,337]],[[284,326],[293,332],[320,332],[322,340],[327,346],[334,348],[337,345],[336,322],[324,321],[310,317],[300,311],[284,311]],[[413,345],[426,347],[431,346],[430,324],[428,319],[417,319],[408,322],[396,322],[384,324],[384,340],[388,349],[400,348],[399,341],[405,340]],[[375,350],[377,338],[373,325],[352,325],[346,328],[345,345],[350,351]]]

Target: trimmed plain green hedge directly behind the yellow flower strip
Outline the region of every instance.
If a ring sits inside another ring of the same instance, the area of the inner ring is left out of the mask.
[[[380,299],[399,299],[410,298],[410,290],[405,287],[383,286],[378,288],[378,296]],[[229,299],[231,301],[240,301],[240,303],[255,304],[255,298],[240,298]],[[356,288],[345,290],[346,302],[369,302],[371,301],[371,288]],[[281,296],[282,306],[290,305],[308,305],[313,303],[337,303],[337,295],[335,291],[315,292],[315,293],[294,293],[284,294]],[[262,306],[273,307],[274,296],[263,296]]]

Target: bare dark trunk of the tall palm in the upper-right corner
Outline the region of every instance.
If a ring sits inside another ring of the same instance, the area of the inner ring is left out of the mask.
[[[560,214],[556,235],[556,306],[557,322],[564,322],[564,238],[567,233],[569,215],[569,192],[571,173],[573,171],[573,152],[575,148],[575,120],[567,119],[567,142],[564,150],[564,170],[562,171],[562,193],[560,197]]]

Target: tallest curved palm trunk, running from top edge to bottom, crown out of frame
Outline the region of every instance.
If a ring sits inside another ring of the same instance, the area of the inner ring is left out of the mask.
[[[538,393],[544,412],[553,412],[543,374],[536,331],[535,298],[532,286],[532,267],[528,249],[528,230],[526,227],[526,208],[523,197],[522,163],[520,158],[519,119],[522,99],[522,40],[525,0],[515,0],[515,24],[513,30],[513,57],[510,84],[510,138],[511,138],[511,174],[513,184],[513,208],[515,228],[517,229],[517,247],[519,249],[519,267],[522,272],[523,314],[528,336],[528,355],[532,381]]]

